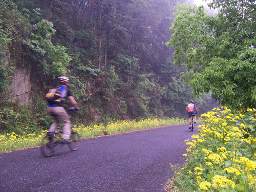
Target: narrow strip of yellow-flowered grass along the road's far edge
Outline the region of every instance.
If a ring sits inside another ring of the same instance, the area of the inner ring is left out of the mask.
[[[111,135],[116,133],[130,132],[134,130],[149,129],[165,125],[177,125],[187,123],[187,119],[178,118],[147,118],[140,121],[113,121],[106,125],[74,125],[73,129],[78,132],[81,138],[90,138],[102,135]],[[26,133],[29,127],[24,127],[23,135],[16,133],[7,133],[0,135],[0,153],[5,153],[13,150],[20,150],[27,147],[40,145],[41,139],[46,135],[48,130],[41,131],[39,134]]]

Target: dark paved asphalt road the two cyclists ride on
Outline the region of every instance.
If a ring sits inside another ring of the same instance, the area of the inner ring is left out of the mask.
[[[196,131],[175,125],[83,139],[78,151],[62,145],[49,158],[38,147],[0,154],[0,191],[164,191]]]

